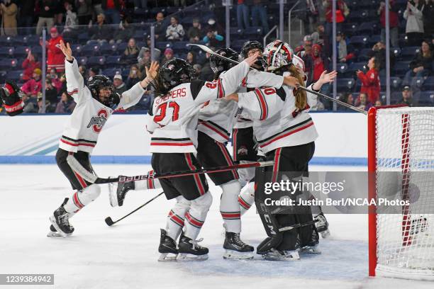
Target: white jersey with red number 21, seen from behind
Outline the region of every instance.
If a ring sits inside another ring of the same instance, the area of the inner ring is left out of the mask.
[[[146,126],[152,133],[150,152],[196,152],[199,109],[207,101],[235,92],[248,71],[247,62],[241,62],[225,78],[179,84],[166,96],[155,98]]]

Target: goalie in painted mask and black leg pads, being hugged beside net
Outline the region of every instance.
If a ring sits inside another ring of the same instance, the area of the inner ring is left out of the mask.
[[[292,62],[289,45],[276,40],[267,45],[264,54],[269,71],[279,75],[291,74],[300,83],[304,83],[304,73]],[[335,72],[323,72],[320,79],[309,88],[319,91],[323,84],[333,81],[335,76]],[[282,178],[296,181],[307,174],[308,162],[315,149],[314,141],[318,137],[308,115],[309,108],[316,103],[315,95],[306,96],[306,92],[301,89],[293,90],[283,86],[277,90],[266,88],[232,94],[226,99],[237,101],[238,106],[250,116],[260,149],[265,152],[267,160],[274,160],[272,169],[265,169],[265,172],[269,171],[265,175],[265,181],[276,182]],[[260,193],[262,192],[257,192],[256,195]],[[261,200],[260,196],[255,196],[255,200]],[[299,206],[299,212],[269,213],[267,217],[262,214],[262,207],[260,203],[257,208],[269,237],[258,246],[257,253],[265,259],[297,260],[299,254],[296,246],[303,249],[318,244],[310,207]],[[298,224],[301,225],[298,229],[279,232],[280,227]]]

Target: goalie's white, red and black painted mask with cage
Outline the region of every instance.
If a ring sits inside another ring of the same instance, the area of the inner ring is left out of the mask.
[[[264,57],[267,61],[267,71],[274,72],[282,67],[289,66],[293,61],[291,47],[282,40],[270,42],[264,50]]]

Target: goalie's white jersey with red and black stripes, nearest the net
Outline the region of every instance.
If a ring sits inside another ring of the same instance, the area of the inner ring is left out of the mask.
[[[312,86],[308,87],[312,89]],[[313,142],[318,137],[308,114],[316,104],[316,95],[307,93],[302,111],[295,106],[296,98],[289,86],[281,89],[255,89],[238,94],[238,106],[253,120],[253,132],[262,152],[279,147],[292,147]]]

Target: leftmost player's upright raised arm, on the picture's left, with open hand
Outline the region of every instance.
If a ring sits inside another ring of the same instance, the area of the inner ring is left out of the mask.
[[[71,46],[69,42],[65,45],[63,40],[60,40],[60,50],[62,50],[65,55],[65,77],[67,79],[67,93],[74,98],[76,103],[82,101],[83,99],[88,99],[90,94],[84,94],[83,91],[84,79],[82,74],[79,72],[77,60],[72,56]]]

